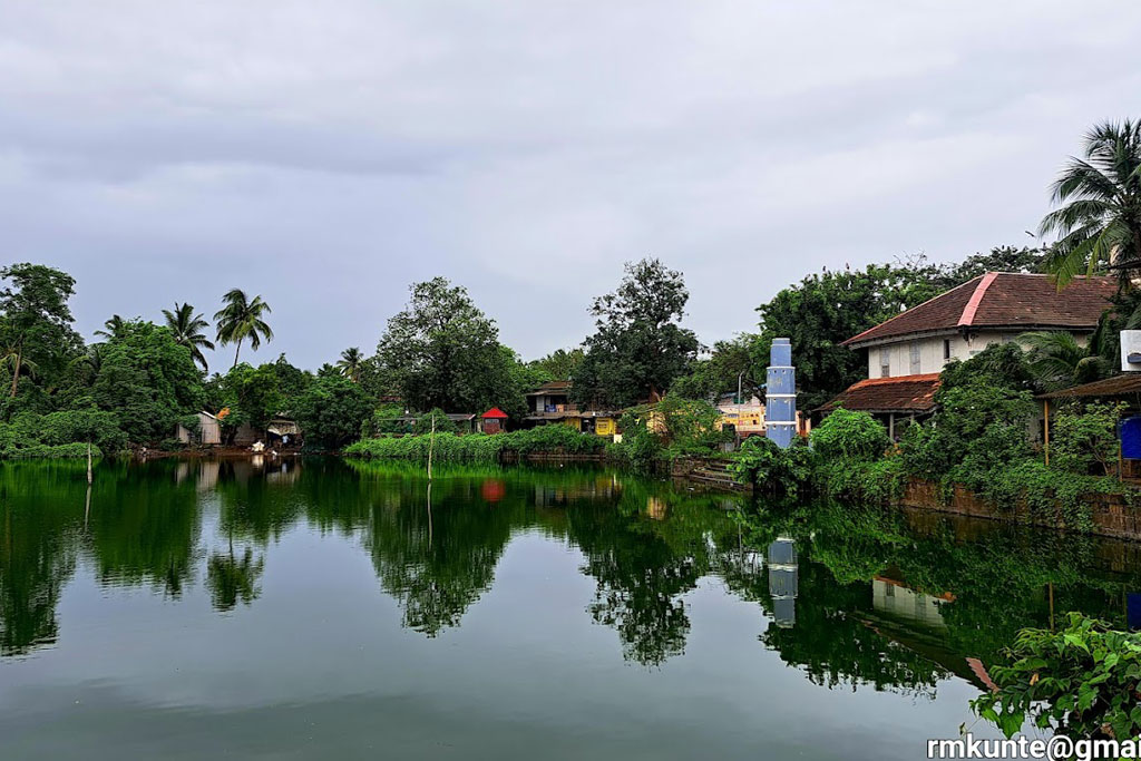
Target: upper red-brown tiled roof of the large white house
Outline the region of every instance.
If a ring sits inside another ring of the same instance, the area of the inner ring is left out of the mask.
[[[1093,330],[1117,290],[1112,277],[1076,277],[1061,293],[1047,275],[987,273],[843,342],[955,329]]]

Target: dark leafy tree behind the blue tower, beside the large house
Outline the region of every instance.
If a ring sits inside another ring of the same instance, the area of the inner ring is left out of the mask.
[[[923,261],[825,272],[756,308],[760,338],[753,377],[762,378],[774,338],[792,339],[799,406],[812,410],[867,375],[859,353],[842,342],[942,292],[938,268]]]

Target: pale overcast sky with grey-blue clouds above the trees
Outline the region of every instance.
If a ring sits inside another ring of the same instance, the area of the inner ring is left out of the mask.
[[[657,257],[712,343],[825,267],[1034,244],[1141,116],[1138,39],[1119,0],[3,0],[0,265],[71,273],[89,339],[241,288],[245,356],[315,369],[437,275],[537,358]]]

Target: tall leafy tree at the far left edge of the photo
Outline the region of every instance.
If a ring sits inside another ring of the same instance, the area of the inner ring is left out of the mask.
[[[0,269],[10,284],[0,290],[0,346],[11,371],[9,396],[15,398],[21,373],[30,359],[39,372],[62,372],[82,341],[72,330],[67,300],[74,278],[43,265],[18,264]]]

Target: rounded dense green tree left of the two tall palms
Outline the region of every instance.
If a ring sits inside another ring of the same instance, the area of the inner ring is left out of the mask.
[[[115,413],[131,442],[169,438],[180,416],[200,408],[202,382],[191,350],[165,327],[127,322],[100,354],[92,400]]]

